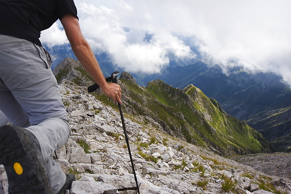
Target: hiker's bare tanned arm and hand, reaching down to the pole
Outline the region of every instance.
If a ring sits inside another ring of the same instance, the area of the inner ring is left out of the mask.
[[[91,47],[82,35],[78,19],[72,13],[68,13],[62,17],[61,22],[72,50],[81,65],[100,86],[104,94],[113,98],[115,102],[121,103],[120,86],[106,82]]]

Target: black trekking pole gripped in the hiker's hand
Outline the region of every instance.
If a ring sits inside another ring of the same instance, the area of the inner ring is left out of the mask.
[[[118,76],[118,74],[119,74],[119,71],[113,72],[110,77],[107,77],[106,78],[106,81],[107,82],[112,81],[113,83],[116,83],[117,84],[117,78],[116,77]],[[89,86],[88,87],[88,92],[94,92],[98,88],[100,88],[100,86],[97,83],[95,83],[92,86]],[[129,153],[130,162],[131,162],[132,172],[133,172],[134,180],[135,180],[135,183],[136,183],[136,187],[125,188],[125,189],[137,190],[137,192],[139,193],[139,184],[137,183],[137,178],[136,178],[136,174],[135,174],[135,170],[134,170],[134,165],[133,165],[132,156],[131,156],[131,152],[130,152],[128,137],[127,137],[127,133],[126,133],[126,129],[125,129],[125,124],[124,124],[123,113],[122,113],[122,110],[121,110],[120,103],[117,102],[117,104],[118,104],[118,108],[119,108],[119,113],[120,113],[120,117],[121,117],[121,123],[122,123],[123,132],[124,132],[124,136],[125,136],[125,141],[126,141],[126,144],[127,144],[127,149],[128,149],[128,153]],[[123,189],[118,189],[118,191],[123,191]]]

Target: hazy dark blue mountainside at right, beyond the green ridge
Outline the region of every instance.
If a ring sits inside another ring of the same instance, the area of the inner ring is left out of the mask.
[[[226,75],[220,66],[209,67],[198,61],[184,67],[168,67],[160,74],[133,76],[137,76],[138,83],[161,79],[175,88],[193,84],[207,97],[216,99],[226,113],[246,120],[264,137],[273,140],[276,147],[291,146],[288,108],[291,106],[291,89],[281,76],[272,72],[254,73],[233,67]]]

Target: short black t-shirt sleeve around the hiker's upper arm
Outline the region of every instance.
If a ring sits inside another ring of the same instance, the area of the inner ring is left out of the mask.
[[[73,0],[56,0],[57,16],[61,20],[67,13],[73,13],[77,19],[77,8]]]

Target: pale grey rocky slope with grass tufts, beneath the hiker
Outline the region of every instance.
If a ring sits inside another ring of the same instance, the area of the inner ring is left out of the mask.
[[[136,184],[117,106],[72,86],[60,91],[72,134],[55,161],[78,179],[66,193],[137,193],[123,191]],[[140,193],[291,193],[288,179],[175,139],[150,118],[125,115],[125,127]],[[3,166],[0,174],[0,194],[8,193]]]

